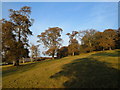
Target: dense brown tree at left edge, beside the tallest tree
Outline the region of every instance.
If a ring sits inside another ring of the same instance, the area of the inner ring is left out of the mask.
[[[3,62],[15,62],[18,57],[27,56],[28,52],[24,48],[22,42],[16,41],[16,35],[13,33],[15,31],[14,23],[6,20],[2,20],[2,52],[3,52]],[[16,48],[21,49],[21,52],[18,52]],[[15,63],[14,63],[15,64]]]

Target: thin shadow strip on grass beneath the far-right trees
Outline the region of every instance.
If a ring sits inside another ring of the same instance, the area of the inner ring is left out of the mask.
[[[116,51],[116,52],[114,52],[114,53],[100,52],[100,53],[92,54],[92,56],[111,56],[111,57],[120,57],[120,51]]]

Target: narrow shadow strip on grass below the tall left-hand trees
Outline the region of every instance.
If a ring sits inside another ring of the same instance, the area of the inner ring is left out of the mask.
[[[13,73],[14,74],[15,73],[22,73],[22,72],[31,70],[35,66],[36,66],[36,63],[20,65],[20,66],[7,67],[6,70],[2,70],[2,77],[8,76],[8,75],[13,74]]]

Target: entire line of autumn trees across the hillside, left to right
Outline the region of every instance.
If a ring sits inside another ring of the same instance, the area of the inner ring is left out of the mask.
[[[28,36],[32,35],[29,29],[34,20],[30,18],[31,7],[24,6],[20,10],[9,10],[9,20],[2,19],[2,61],[13,61],[14,66],[19,65],[21,58],[39,56],[39,45],[46,47],[45,55],[54,59],[68,55],[79,55],[92,51],[120,49],[120,28],[106,29],[103,32],[95,29],[72,31],[66,33],[69,45],[62,46],[62,28],[51,27],[37,35],[39,45],[28,44]]]

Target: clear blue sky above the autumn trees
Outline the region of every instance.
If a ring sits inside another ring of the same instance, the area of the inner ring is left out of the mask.
[[[19,10],[23,6],[32,8],[31,18],[35,21],[30,28],[33,36],[29,36],[29,43],[36,45],[37,35],[49,27],[63,29],[63,46],[69,44],[66,33],[73,30],[118,28],[117,2],[3,2],[2,17],[9,20],[8,10]],[[45,49],[40,46],[40,50]]]

